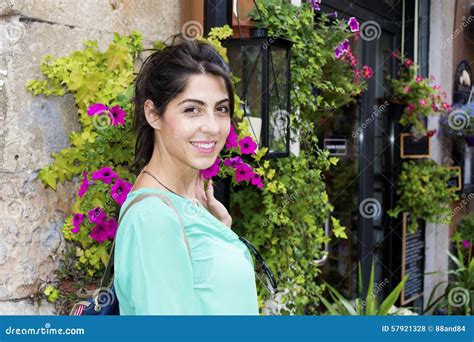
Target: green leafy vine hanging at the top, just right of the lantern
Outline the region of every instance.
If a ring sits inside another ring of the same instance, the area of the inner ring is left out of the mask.
[[[322,13],[314,20],[311,4],[294,6],[287,0],[258,1],[249,17],[269,30],[269,36],[294,42],[291,58],[291,100],[297,103],[301,116],[314,122],[322,114],[354,101],[366,87],[354,82],[349,63],[337,60],[334,48],[352,36],[342,20],[332,20]],[[271,45],[271,44],[269,44]],[[313,95],[313,86],[318,95]]]

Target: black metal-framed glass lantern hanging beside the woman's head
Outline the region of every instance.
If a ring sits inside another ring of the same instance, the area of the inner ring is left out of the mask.
[[[290,53],[293,42],[267,37],[265,31],[251,38],[229,39],[229,65],[240,79],[236,92],[243,102],[244,120],[266,158],[290,153]]]

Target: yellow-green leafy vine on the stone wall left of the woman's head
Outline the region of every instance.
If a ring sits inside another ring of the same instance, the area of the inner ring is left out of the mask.
[[[56,189],[59,181],[64,184],[83,171],[96,170],[106,165],[123,165],[117,172],[126,173],[134,147],[131,135],[131,90],[133,65],[138,52],[143,49],[141,34],[114,35],[109,48],[102,52],[96,41],[84,44],[84,50],[70,56],[54,59],[44,57],[41,71],[46,80],[32,80],[27,88],[35,95],[74,95],[81,132],[70,135],[71,147],[53,153],[54,162],[39,172],[46,185]],[[120,105],[127,113],[125,127],[98,122],[87,114],[89,105],[100,102],[107,106]],[[126,174],[123,177],[129,178]]]

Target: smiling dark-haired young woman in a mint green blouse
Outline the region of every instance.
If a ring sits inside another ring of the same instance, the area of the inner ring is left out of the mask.
[[[120,216],[143,194],[169,202],[146,197],[122,218],[114,270],[121,315],[259,314],[252,257],[199,173],[214,164],[230,131],[228,72],[209,44],[175,39],[137,76],[141,171]]]

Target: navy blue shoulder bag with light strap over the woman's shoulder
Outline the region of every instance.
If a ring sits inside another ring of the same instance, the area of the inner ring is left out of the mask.
[[[120,227],[120,222],[122,222],[122,218],[125,216],[126,212],[132,205],[141,201],[146,197],[159,197],[161,198],[167,205],[169,205],[178,215],[178,220],[181,224],[181,229],[183,231],[184,241],[186,242],[186,246],[188,248],[188,253],[191,256],[191,250],[189,248],[188,238],[186,236],[186,231],[184,230],[183,223],[181,221],[181,217],[179,216],[178,211],[171,203],[171,200],[161,194],[143,194],[135,198],[128,207],[123,212],[123,215],[120,217],[118,222],[118,227]],[[118,228],[117,228],[118,230]],[[70,316],[117,316],[120,315],[119,309],[119,301],[117,298],[117,294],[115,293],[114,288],[114,277],[113,277],[113,264],[114,264],[114,250],[115,250],[115,240],[112,242],[112,246],[110,248],[110,259],[107,263],[107,267],[105,269],[104,275],[102,280],[100,281],[100,286],[96,290],[93,291],[91,297],[87,298],[86,300],[82,300],[74,304],[69,313]],[[108,280],[111,278],[110,280]],[[104,284],[109,284],[107,287],[104,287]]]

